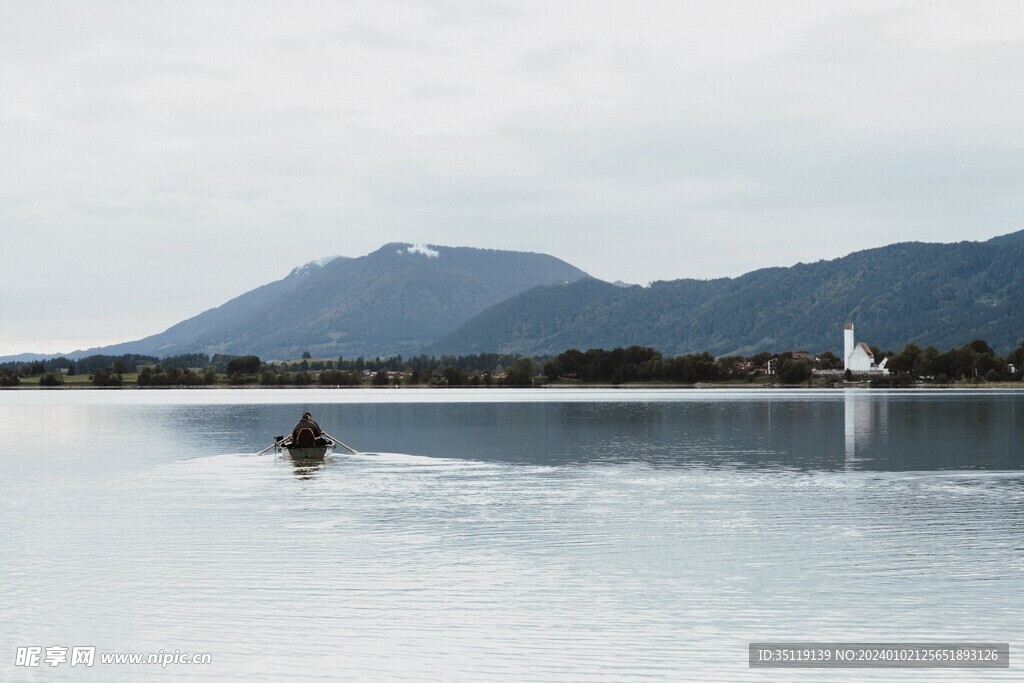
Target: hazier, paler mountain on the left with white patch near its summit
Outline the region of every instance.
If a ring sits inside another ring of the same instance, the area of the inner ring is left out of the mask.
[[[411,353],[525,290],[586,276],[544,254],[395,243],[307,263],[165,332],[78,355]]]

